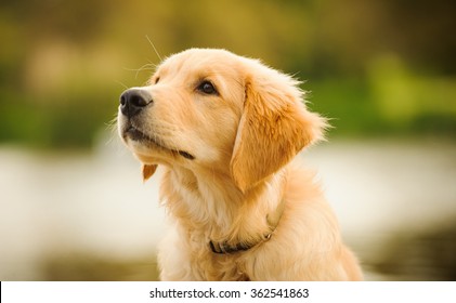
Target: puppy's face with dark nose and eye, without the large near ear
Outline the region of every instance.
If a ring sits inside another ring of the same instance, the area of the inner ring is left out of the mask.
[[[119,134],[144,163],[144,179],[157,164],[230,173],[244,100],[236,63],[226,51],[187,50],[165,60],[148,85],[122,93]]]

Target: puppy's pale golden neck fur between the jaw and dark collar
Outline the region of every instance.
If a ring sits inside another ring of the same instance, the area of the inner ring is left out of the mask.
[[[246,193],[226,174],[168,170],[161,197],[170,214],[187,230],[187,237],[198,237],[214,252],[224,252],[223,248],[229,247],[246,250],[268,239],[278,224],[284,206],[284,170]]]

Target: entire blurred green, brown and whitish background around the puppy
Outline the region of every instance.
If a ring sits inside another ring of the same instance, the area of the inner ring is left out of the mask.
[[[200,47],[305,80],[333,118],[302,157],[366,279],[455,280],[455,14],[452,0],[1,1],[0,279],[157,278],[160,172],[142,184],[113,119],[159,56]]]

